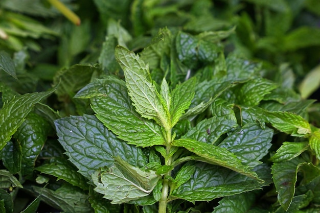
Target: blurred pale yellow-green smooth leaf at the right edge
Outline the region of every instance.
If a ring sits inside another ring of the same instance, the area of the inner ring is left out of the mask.
[[[299,91],[303,99],[308,98],[312,92],[320,87],[320,65],[314,67],[299,85]]]

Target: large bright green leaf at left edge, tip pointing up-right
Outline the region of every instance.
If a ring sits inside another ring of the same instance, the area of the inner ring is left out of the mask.
[[[52,92],[27,93],[12,99],[0,109],[0,150],[4,148],[17,128],[24,122],[33,106]]]

